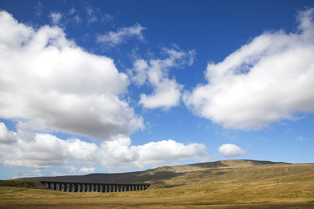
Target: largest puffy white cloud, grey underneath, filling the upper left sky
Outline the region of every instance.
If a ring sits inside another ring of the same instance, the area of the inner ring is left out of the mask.
[[[103,141],[144,128],[143,118],[120,98],[128,76],[112,59],[87,53],[56,26],[34,29],[5,11],[0,30],[5,31],[0,34],[1,118],[32,130]]]

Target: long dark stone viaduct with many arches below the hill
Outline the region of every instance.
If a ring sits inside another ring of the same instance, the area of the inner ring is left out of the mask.
[[[97,191],[97,192],[118,192],[118,191],[139,191],[146,190],[150,184],[105,184],[105,183],[77,183],[77,182],[57,182],[57,181],[39,181],[43,185],[47,185],[49,189],[82,192],[82,191]],[[58,187],[57,187],[58,185]],[[62,186],[63,185],[63,186]]]

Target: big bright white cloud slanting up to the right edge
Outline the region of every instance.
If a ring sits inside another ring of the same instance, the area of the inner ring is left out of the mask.
[[[257,130],[314,112],[314,9],[298,14],[296,33],[264,32],[220,63],[206,84],[185,92],[196,115],[224,128]]]

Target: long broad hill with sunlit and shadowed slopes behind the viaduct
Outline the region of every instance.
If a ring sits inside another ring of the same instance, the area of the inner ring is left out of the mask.
[[[278,167],[278,165],[280,166]],[[294,165],[295,166],[291,166],[291,164],[284,162],[237,159],[188,165],[162,166],[155,169],[127,173],[30,177],[17,178],[14,180],[182,185],[224,179],[263,179],[308,171],[308,169],[303,168],[304,166],[302,166],[302,164]],[[265,166],[268,167],[265,168]],[[290,167],[288,168],[287,166]]]

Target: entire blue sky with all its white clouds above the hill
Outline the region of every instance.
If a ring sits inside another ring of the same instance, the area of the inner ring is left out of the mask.
[[[0,9],[0,179],[314,163],[314,1]]]

